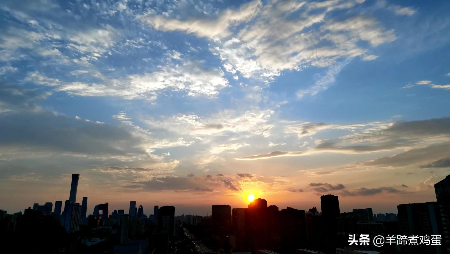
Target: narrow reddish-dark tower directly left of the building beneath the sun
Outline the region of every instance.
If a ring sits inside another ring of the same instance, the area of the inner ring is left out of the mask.
[[[229,243],[236,251],[247,250],[245,239],[246,210],[247,208],[233,208],[232,210],[232,226],[231,226],[231,235],[229,236]]]

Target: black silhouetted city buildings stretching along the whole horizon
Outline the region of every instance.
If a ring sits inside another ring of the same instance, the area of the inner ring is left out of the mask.
[[[372,208],[341,212],[338,196],[328,194],[320,197],[321,212],[316,207],[280,209],[268,205],[265,199],[255,199],[247,208],[212,205],[211,216],[206,217],[175,216],[174,206],[155,206],[153,214],[147,216],[143,206],[137,207],[135,201],[130,201],[128,213],[124,210],[110,213],[108,203],[102,203],[86,216],[87,197],[82,198],[81,204],[76,203],[78,180],[79,175],[72,174],[70,195],[64,207],[62,201],[56,201],[54,208],[50,202],[35,203],[24,214],[0,210],[2,232],[20,231],[25,224],[48,232],[63,230],[86,246],[113,242],[113,253],[139,254],[150,248],[157,249],[154,253],[199,253],[192,235],[185,234],[187,229],[200,234],[201,240],[214,243],[213,249],[229,254],[450,253],[450,175],[434,185],[437,201],[400,204],[397,214],[374,214]],[[89,237],[85,236],[86,230]],[[442,240],[440,245],[349,246],[350,234],[369,235],[369,239],[437,235]]]

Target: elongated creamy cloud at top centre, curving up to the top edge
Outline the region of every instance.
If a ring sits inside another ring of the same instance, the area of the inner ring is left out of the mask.
[[[239,9],[226,9],[216,19],[198,18],[182,21],[154,14],[138,16],[138,19],[162,31],[183,31],[200,37],[227,37],[231,35],[230,26],[249,21],[257,14],[260,7],[260,0],[254,0],[242,5]]]

